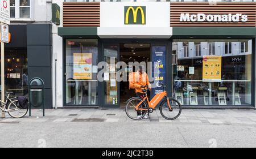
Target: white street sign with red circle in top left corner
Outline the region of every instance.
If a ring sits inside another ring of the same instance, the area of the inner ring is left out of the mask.
[[[10,25],[10,0],[0,0],[0,22]]]

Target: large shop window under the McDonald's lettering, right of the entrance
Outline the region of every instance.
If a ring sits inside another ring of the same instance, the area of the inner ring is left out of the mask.
[[[251,50],[252,40],[174,40],[175,98],[182,105],[251,105]]]

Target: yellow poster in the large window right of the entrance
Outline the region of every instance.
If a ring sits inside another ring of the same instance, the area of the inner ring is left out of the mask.
[[[221,81],[221,56],[204,56],[203,81]]]

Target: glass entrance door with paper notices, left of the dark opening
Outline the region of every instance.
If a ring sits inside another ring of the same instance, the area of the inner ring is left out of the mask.
[[[108,63],[108,67],[104,72],[104,105],[103,107],[119,107],[119,83],[115,75],[117,68],[115,64],[119,61],[119,46],[104,46],[104,61]]]

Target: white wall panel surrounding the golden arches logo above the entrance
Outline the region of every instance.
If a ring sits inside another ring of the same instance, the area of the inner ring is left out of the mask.
[[[125,7],[145,6],[146,24],[125,24]],[[101,2],[101,38],[170,38],[170,2]]]

